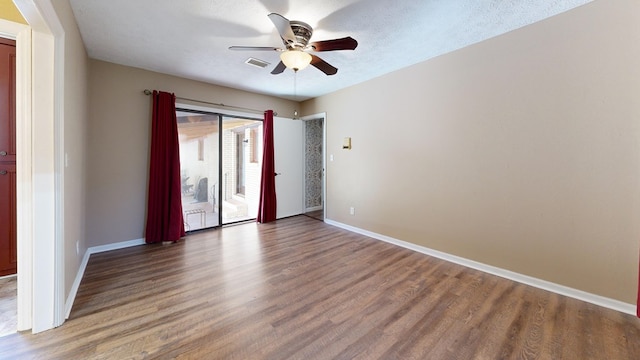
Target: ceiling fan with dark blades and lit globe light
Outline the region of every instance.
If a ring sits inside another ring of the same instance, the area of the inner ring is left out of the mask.
[[[282,73],[286,68],[297,72],[309,64],[327,75],[334,75],[338,72],[337,68],[318,56],[310,54],[309,51],[354,50],[358,46],[358,42],[350,36],[309,43],[313,34],[313,28],[309,24],[302,21],[289,21],[276,13],[268,16],[280,33],[284,49],[270,46],[231,46],[229,50],[279,51],[280,63],[271,71],[274,75]]]

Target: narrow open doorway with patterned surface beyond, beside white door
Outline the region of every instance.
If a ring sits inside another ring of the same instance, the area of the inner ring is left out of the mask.
[[[324,221],[324,118],[304,121],[305,215]]]

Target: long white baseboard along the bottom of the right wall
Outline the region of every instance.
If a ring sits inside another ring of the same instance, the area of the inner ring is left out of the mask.
[[[530,285],[539,289],[554,292],[556,294],[568,296],[574,299],[582,300],[591,304],[599,305],[616,311],[620,311],[626,314],[636,315],[636,305],[628,304],[619,300],[607,298],[604,296],[588,293],[586,291],[574,289],[568,286],[559,285],[550,281],[534,278],[528,275],[523,275],[513,271],[501,269],[499,267],[483,264],[477,261],[465,259],[463,257],[447,254],[441,251],[426,248],[424,246],[416,245],[410,242],[394,239],[392,237],[374,233],[368,230],[360,229],[351,225],[339,223],[330,219],[325,219],[325,223],[333,225],[345,230],[349,230],[361,235],[365,235],[377,240],[381,240],[390,244],[394,244],[409,250],[417,251],[419,253],[433,256],[442,260],[446,260],[458,265],[466,266],[472,269],[480,270],[492,275],[500,276],[505,279],[517,281],[519,283]]]

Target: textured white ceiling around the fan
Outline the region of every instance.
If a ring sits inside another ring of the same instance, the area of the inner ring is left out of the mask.
[[[71,0],[94,59],[304,100],[445,54],[591,0]],[[270,72],[277,52],[230,51],[282,41],[267,15],[314,28],[311,41],[351,36],[354,51],[319,52],[338,73]],[[264,69],[244,62],[254,57]],[[141,84],[141,90],[144,87]],[[170,89],[167,89],[170,90]],[[294,96],[295,95],[295,96]]]

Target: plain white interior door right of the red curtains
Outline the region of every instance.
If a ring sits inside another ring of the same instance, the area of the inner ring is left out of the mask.
[[[276,168],[276,217],[304,212],[304,127],[300,120],[273,119],[273,142]]]

